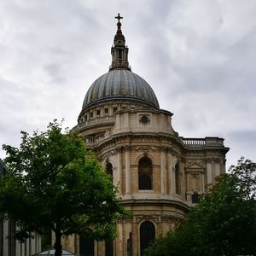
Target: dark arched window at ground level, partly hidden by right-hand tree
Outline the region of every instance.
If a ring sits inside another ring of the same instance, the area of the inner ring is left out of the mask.
[[[155,229],[154,224],[150,221],[145,221],[140,227],[140,245],[141,245],[141,255],[143,255],[144,250],[154,241]]]

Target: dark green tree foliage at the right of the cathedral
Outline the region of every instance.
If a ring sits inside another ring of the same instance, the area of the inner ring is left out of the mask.
[[[256,255],[256,164],[238,161],[176,230],[148,248],[148,256]]]

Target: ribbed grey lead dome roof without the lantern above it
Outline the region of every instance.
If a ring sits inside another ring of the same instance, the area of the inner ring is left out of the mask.
[[[113,69],[96,79],[84,97],[83,109],[113,100],[142,102],[159,108],[154,90],[143,78],[128,69]]]

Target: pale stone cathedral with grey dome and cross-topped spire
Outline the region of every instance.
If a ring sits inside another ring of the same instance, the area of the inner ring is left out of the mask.
[[[81,256],[143,255],[225,172],[229,151],[223,138],[178,136],[172,113],[160,109],[154,90],[131,71],[122,17],[115,18],[111,66],[87,91],[73,131],[96,152],[119,187],[122,206],[133,215],[119,219],[113,241],[64,238],[63,247]]]

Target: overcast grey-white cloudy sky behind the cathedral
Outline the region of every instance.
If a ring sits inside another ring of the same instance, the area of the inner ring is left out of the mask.
[[[224,137],[227,166],[255,161],[255,0],[1,0],[0,144],[55,118],[76,125],[108,72],[117,13],[132,71],[179,135]]]

